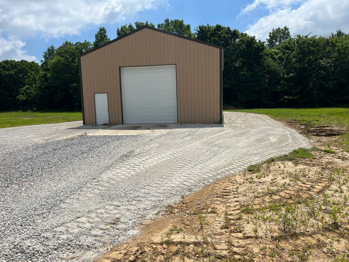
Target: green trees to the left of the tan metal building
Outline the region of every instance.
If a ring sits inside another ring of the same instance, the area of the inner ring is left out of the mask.
[[[25,60],[0,63],[0,111],[15,109],[80,109],[77,57],[89,51],[87,42],[49,46],[41,64]]]

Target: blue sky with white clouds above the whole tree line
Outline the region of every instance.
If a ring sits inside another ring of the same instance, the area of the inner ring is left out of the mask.
[[[0,0],[0,60],[39,62],[51,44],[93,42],[100,26],[114,39],[122,24],[156,25],[166,17],[183,19],[193,31],[202,23],[223,24],[265,41],[279,26],[291,35],[348,32],[349,0]]]

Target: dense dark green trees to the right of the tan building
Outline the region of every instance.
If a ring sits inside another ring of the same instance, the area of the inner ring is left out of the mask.
[[[273,29],[267,44],[219,24],[196,37],[224,47],[223,103],[242,108],[348,105],[349,35],[290,37]]]

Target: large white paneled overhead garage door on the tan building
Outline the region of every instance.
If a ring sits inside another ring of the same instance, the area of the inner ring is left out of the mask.
[[[176,66],[121,68],[124,124],[177,123]]]

